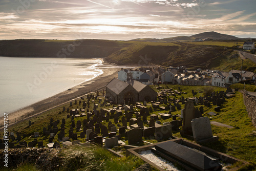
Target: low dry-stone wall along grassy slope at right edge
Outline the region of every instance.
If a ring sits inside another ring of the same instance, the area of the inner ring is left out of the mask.
[[[248,112],[248,116],[251,118],[252,124],[256,127],[256,97],[249,95],[246,90],[241,91],[244,97],[244,105]]]

